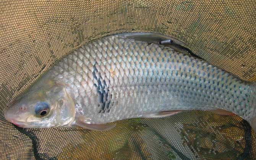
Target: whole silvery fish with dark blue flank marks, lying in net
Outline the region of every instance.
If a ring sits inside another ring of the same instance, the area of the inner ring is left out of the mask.
[[[22,128],[107,131],[119,120],[206,110],[238,115],[256,131],[256,84],[188,54],[184,45],[149,33],[92,40],[19,94],[5,119]]]

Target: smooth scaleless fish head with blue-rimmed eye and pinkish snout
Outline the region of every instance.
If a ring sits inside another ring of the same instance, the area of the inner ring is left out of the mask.
[[[4,116],[22,128],[60,127],[73,122],[75,104],[65,85],[44,80],[12,101]]]

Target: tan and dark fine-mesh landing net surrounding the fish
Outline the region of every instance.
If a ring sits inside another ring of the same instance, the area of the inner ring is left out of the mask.
[[[256,135],[237,116],[190,111],[116,122],[110,131],[23,129],[7,104],[86,42],[154,32],[243,80],[256,81],[255,1],[84,0],[0,2],[0,159],[256,159]]]

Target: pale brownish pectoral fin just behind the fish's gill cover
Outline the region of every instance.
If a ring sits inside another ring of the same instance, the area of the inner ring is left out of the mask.
[[[106,125],[106,124],[90,124],[90,123],[84,123],[83,118],[78,118],[76,121],[76,125],[82,128],[86,128],[88,130],[94,130],[94,131],[108,131],[114,128],[116,125]]]

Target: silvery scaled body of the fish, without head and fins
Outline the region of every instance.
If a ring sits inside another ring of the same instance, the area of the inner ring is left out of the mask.
[[[102,124],[192,109],[224,109],[249,123],[256,115],[255,83],[168,46],[122,36],[79,47],[39,81],[48,80],[65,86],[75,104],[73,122],[83,117],[84,123]]]

